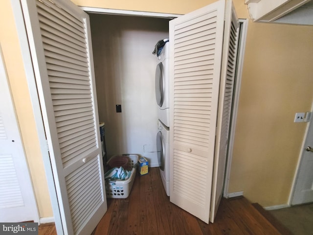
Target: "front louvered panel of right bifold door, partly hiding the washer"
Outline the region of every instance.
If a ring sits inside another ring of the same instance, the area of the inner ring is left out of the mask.
[[[224,96],[228,96],[227,70],[221,68],[228,65],[224,59],[228,52],[223,49],[228,51],[229,40],[224,42],[224,35],[230,35],[231,24],[225,21],[224,26],[224,19],[226,14],[231,16],[227,10],[231,5],[229,0],[220,0],[172,20],[169,25],[170,200],[206,223],[214,221],[211,204],[218,207],[219,188],[223,188],[224,182],[223,175],[222,185],[217,186],[221,184],[218,168],[224,164],[219,159],[219,148],[224,148],[222,139],[227,136],[223,133],[223,119],[227,119],[223,118],[227,111],[223,109],[227,100]]]

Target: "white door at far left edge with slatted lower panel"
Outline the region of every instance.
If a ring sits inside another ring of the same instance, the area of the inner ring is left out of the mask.
[[[0,47],[0,221],[39,216]]]

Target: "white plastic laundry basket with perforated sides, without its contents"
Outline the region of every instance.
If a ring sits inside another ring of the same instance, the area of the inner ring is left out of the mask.
[[[110,160],[112,160],[115,156],[118,155],[112,156]],[[136,176],[138,155],[130,154],[127,156],[131,159],[131,162],[129,164],[131,164],[133,167],[131,176],[127,180],[106,180],[105,186],[107,198],[127,198],[131,192]],[[108,161],[108,164],[110,160]]]

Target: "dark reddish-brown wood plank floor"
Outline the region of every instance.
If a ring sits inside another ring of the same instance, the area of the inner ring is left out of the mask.
[[[44,230],[45,226],[40,227],[42,229],[39,229],[39,235],[56,234],[53,233],[53,228]],[[274,227],[244,197],[223,198],[215,222],[205,224],[170,203],[158,168],[149,168],[148,175],[137,174],[128,198],[108,199],[108,211],[93,232],[93,235],[285,234],[290,233],[279,226]]]

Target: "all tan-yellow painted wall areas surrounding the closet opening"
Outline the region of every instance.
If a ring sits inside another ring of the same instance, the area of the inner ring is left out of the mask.
[[[185,14],[215,0],[103,1],[72,0],[77,5],[112,9]],[[243,0],[234,0],[240,18],[247,18]],[[1,2],[0,42],[22,139],[41,217],[52,216],[22,66],[17,31],[9,0]],[[242,88],[230,178],[230,192],[262,206],[286,204],[305,132],[293,123],[295,112],[309,111],[313,94],[312,26],[249,23]]]

